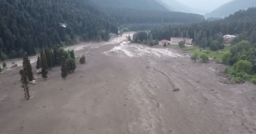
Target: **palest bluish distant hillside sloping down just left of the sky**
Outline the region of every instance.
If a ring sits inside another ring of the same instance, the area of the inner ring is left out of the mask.
[[[204,10],[199,10],[196,8],[192,8],[189,6],[186,6],[176,0],[157,0],[157,1],[162,1],[163,3],[165,3],[166,5],[168,5],[171,8],[168,8],[170,11],[175,11],[172,10],[173,8],[176,9],[176,11],[178,12],[184,12],[184,13],[194,13],[194,14],[204,14],[206,13],[206,11]]]

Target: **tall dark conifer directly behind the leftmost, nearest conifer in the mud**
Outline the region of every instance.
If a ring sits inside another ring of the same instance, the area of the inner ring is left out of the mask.
[[[25,55],[23,57],[22,65],[23,65],[23,70],[25,71],[25,75],[28,76],[29,81],[32,81],[33,80],[33,72],[32,72],[32,67],[31,67],[28,55]]]

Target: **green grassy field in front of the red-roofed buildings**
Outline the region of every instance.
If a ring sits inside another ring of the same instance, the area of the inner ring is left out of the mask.
[[[178,45],[171,45],[171,47],[172,48],[179,48]],[[199,55],[206,54],[211,58],[215,58],[215,60],[221,61],[224,53],[229,51],[230,48],[231,48],[231,46],[225,46],[225,49],[218,50],[218,51],[213,51],[213,50],[210,50],[210,48],[208,48],[208,47],[207,48],[200,48],[199,46],[192,46],[192,47],[187,47],[186,46],[182,50],[186,50],[186,51],[191,52],[191,53],[196,52]]]

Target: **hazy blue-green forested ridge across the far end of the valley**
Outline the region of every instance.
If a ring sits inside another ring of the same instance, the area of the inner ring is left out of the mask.
[[[102,8],[106,14],[115,18],[119,25],[121,24],[157,24],[157,23],[195,23],[203,22],[205,18],[203,15],[159,11],[159,10],[142,10],[131,8]]]

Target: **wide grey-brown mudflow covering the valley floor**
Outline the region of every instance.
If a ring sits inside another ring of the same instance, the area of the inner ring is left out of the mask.
[[[86,54],[87,63],[65,80],[52,68],[47,81],[29,85],[29,101],[22,100],[21,67],[0,73],[0,134],[256,133],[256,86],[220,83],[225,65],[115,43],[81,45],[76,56]]]

